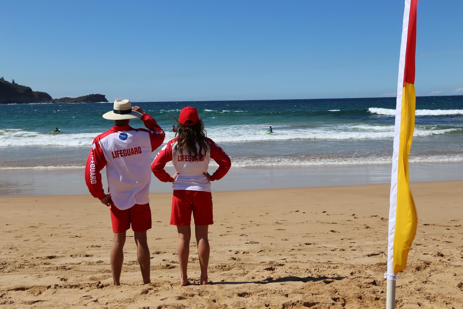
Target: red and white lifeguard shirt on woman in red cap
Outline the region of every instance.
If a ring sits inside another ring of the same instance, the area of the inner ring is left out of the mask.
[[[207,139],[207,148],[204,155],[190,155],[187,151],[175,151],[177,139],[170,140],[156,155],[151,170],[161,181],[171,182],[173,178],[164,170],[167,162],[172,160],[175,173],[179,173],[172,183],[174,190],[192,190],[211,192],[211,182],[203,173],[207,172],[211,158],[219,164],[219,168],[211,175],[211,181],[219,180],[230,170],[232,162],[230,157],[212,139]],[[197,145],[198,146],[198,145]],[[198,146],[199,148],[199,146]]]

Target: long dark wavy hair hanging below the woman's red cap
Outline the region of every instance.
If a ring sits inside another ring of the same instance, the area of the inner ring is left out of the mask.
[[[192,126],[184,126],[179,122],[175,130],[177,143],[175,144],[174,152],[182,153],[183,151],[187,151],[189,155],[197,156],[206,154],[207,133],[204,129],[202,119]],[[196,145],[199,145],[199,147]]]

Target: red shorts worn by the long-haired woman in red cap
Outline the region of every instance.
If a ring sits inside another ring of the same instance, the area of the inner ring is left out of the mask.
[[[193,212],[195,225],[213,224],[212,194],[205,191],[174,190],[170,224],[190,225]]]

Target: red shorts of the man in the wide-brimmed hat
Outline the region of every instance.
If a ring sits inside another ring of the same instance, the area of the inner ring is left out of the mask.
[[[129,209],[120,210],[111,204],[111,223],[113,232],[125,232],[132,225],[132,231],[144,232],[151,228],[151,209],[150,204],[135,204]]]

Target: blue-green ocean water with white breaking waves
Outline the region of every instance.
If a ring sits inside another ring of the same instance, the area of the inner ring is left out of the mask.
[[[234,166],[388,164],[395,98],[139,102],[167,131],[193,106]],[[113,103],[8,104],[0,112],[0,169],[79,168],[113,123]],[[411,162],[463,161],[463,96],[418,97]],[[140,120],[131,126],[143,127]],[[264,134],[269,126],[274,133]],[[49,134],[55,127],[60,133]],[[153,153],[153,157],[156,154]]]

